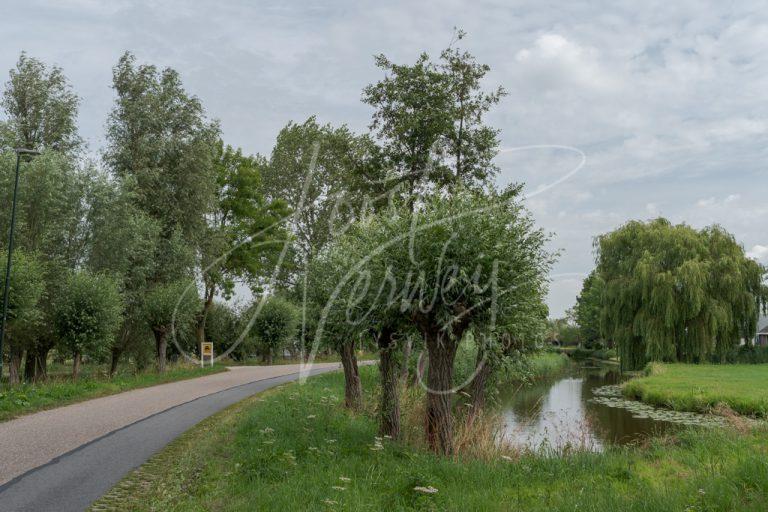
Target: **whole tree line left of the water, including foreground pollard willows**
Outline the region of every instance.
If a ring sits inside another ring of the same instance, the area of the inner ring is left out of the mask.
[[[24,353],[44,366],[53,346],[71,347],[75,365],[109,352],[113,369],[151,346],[162,370],[171,339],[245,340],[241,351],[256,339],[267,360],[295,341],[340,354],[356,408],[355,353],[372,343],[382,434],[399,436],[400,389],[423,382],[426,438],[451,453],[455,391],[471,397],[472,421],[494,372],[543,337],[554,258],[521,188],[492,185],[498,131],[485,115],[505,92],[485,89],[488,66],[454,43],[436,61],[376,58],[385,76],[363,91],[370,133],[310,117],[281,130],[268,158],[226,146],[176,72],[125,54],[100,165],[83,158],[61,71],[22,55],[3,143],[43,155],[21,186],[14,279],[23,261],[40,278],[13,287],[16,368]],[[31,107],[33,96],[45,99]],[[2,179],[10,163],[6,154]],[[243,311],[222,301],[238,284],[258,297]],[[470,337],[477,369],[457,386],[454,359]]]

